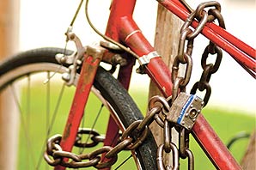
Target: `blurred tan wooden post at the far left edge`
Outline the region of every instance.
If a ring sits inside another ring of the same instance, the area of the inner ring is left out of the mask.
[[[19,0],[0,2],[0,60],[12,55],[18,42]],[[17,49],[17,48],[16,48]],[[6,100],[8,94],[0,95],[0,169],[15,169],[17,117],[10,111]]]

